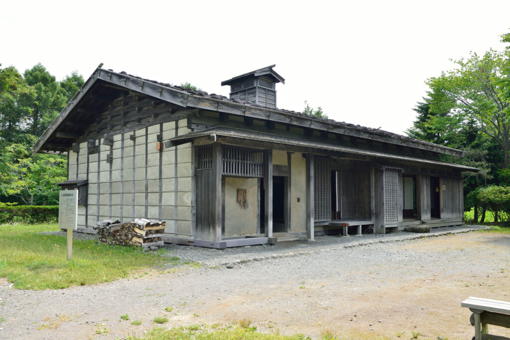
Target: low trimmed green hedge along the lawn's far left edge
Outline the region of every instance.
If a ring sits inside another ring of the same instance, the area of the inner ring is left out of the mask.
[[[23,222],[29,224],[57,222],[59,206],[3,206],[0,207],[0,224]]]

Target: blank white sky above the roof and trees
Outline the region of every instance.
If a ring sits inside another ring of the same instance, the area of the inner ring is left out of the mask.
[[[0,64],[61,80],[99,63],[228,96],[222,80],[268,65],[279,108],[402,134],[450,58],[503,49],[510,1],[5,1]]]

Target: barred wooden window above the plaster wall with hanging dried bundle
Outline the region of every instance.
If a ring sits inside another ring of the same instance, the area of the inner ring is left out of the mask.
[[[223,175],[236,177],[264,177],[262,150],[241,147],[222,147]]]

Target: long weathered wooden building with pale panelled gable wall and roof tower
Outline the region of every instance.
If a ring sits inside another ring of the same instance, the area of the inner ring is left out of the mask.
[[[223,248],[463,223],[477,169],[439,160],[462,151],[277,109],[274,65],[230,98],[101,66],[33,147],[67,154],[80,231],[163,219],[166,242]]]

